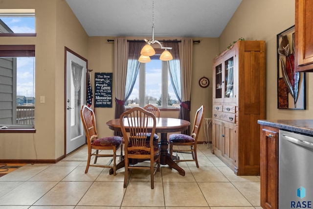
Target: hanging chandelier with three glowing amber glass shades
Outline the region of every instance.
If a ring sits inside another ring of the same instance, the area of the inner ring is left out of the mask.
[[[145,39],[145,42],[147,43],[145,46],[142,47],[140,54],[141,56],[139,57],[139,62],[141,63],[147,63],[150,62],[150,56],[153,56],[156,54],[155,49],[151,46],[152,44],[159,44],[161,46],[161,48],[164,49],[164,51],[162,52],[161,56],[160,56],[160,60],[162,61],[169,61],[173,59],[172,54],[167,50],[167,49],[172,49],[172,47],[164,47],[161,45],[161,43],[157,40],[155,40],[155,35],[154,35],[154,30],[155,30],[155,23],[154,23],[154,13],[155,13],[155,1],[153,0],[153,4],[152,4],[152,39],[150,39],[149,41],[147,39]]]

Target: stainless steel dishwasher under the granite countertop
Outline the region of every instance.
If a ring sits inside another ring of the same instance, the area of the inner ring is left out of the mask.
[[[313,137],[279,131],[279,209],[312,208]]]

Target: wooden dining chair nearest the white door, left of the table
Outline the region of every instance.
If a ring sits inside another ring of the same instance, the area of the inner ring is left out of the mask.
[[[87,145],[88,145],[88,162],[86,166],[85,173],[88,173],[89,166],[95,167],[105,167],[105,168],[113,168],[113,175],[116,175],[116,150],[121,148],[120,159],[123,156],[123,138],[112,136],[99,138],[97,129],[96,129],[96,120],[94,116],[94,112],[87,105],[83,105],[80,111],[80,115],[83,121]],[[100,154],[99,150],[112,150],[112,154]],[[91,156],[94,157],[94,164],[90,164]],[[112,159],[107,163],[107,165],[99,165],[97,163],[98,157],[111,157]],[[113,161],[113,165],[110,165]]]

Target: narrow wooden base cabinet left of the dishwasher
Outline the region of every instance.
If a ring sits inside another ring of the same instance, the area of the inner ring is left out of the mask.
[[[261,207],[278,208],[278,128],[261,125]]]

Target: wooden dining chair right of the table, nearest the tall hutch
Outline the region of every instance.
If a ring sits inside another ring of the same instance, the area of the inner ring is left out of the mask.
[[[195,161],[197,167],[199,167],[197,159],[197,140],[200,131],[200,127],[203,120],[204,106],[202,105],[196,112],[194,127],[191,132],[191,136],[185,134],[171,134],[169,136],[170,141],[170,154],[173,156],[173,152],[176,153],[191,153],[192,160],[177,160],[173,159],[176,162],[183,161]],[[174,146],[179,146],[179,149],[174,149]],[[182,148],[181,146],[188,146],[190,148]]]

